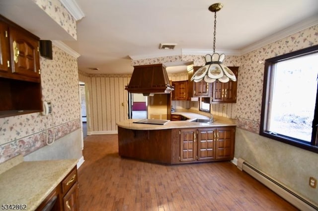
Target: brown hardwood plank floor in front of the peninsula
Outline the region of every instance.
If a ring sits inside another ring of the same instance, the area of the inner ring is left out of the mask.
[[[81,211],[296,211],[231,162],[161,165],[118,156],[117,135],[84,140]]]

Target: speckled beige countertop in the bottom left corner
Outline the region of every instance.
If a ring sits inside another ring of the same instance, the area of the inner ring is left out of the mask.
[[[76,166],[77,159],[22,161],[0,174],[0,205],[35,210]]]

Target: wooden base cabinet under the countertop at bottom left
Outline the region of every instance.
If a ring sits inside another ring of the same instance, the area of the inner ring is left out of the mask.
[[[50,211],[79,211],[79,185],[76,166],[49,194],[36,211],[51,207]]]

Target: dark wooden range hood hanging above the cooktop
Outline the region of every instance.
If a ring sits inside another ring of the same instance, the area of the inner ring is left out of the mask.
[[[170,85],[165,66],[151,64],[134,66],[129,85],[125,90],[131,93],[142,93],[144,96],[153,96],[156,93],[168,94],[174,88]]]

